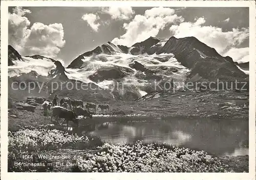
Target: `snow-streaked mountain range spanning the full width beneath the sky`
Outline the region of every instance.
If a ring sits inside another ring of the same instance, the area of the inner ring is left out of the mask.
[[[67,67],[40,55],[22,57],[8,46],[9,86],[12,82],[39,82],[30,93],[9,88],[9,96],[20,99],[31,94],[71,96],[85,101],[134,100],[159,91],[155,82],[179,89],[186,82],[249,82],[249,63],[233,62],[195,37],[158,39],[150,37],[131,47],[106,42],[75,58]],[[49,91],[53,82],[87,83],[96,89]],[[175,82],[175,83],[174,83]],[[247,83],[248,86],[249,83]],[[17,85],[16,85],[17,86]],[[115,89],[112,87],[115,86]],[[122,88],[117,88],[122,86]]]

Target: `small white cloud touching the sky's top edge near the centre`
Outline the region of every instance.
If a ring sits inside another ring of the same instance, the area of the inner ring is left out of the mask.
[[[115,20],[128,20],[135,13],[131,7],[103,7],[102,12],[109,14]]]

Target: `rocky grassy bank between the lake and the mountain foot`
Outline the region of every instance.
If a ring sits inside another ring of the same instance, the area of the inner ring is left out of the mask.
[[[17,102],[8,102],[8,130],[15,131],[27,125],[51,124],[50,116],[44,116],[40,106],[35,112],[20,111],[15,108]],[[96,101],[95,104],[109,104],[110,112],[99,110],[93,119],[100,116],[114,117],[154,117],[162,119],[190,118],[190,119],[246,119],[249,120],[249,95],[248,92],[235,91],[206,91],[206,92],[155,92],[147,94],[134,101],[110,100]],[[51,114],[51,110],[49,112]],[[95,114],[95,113],[94,113]],[[35,120],[36,119],[36,120]],[[104,121],[104,120],[102,120]]]

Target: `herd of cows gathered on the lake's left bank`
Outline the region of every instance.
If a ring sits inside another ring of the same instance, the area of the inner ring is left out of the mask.
[[[73,107],[73,108],[72,108]],[[97,113],[97,105],[94,103],[88,102],[85,104],[86,109],[84,109],[83,101],[71,99],[69,97],[61,98],[59,105],[54,105],[52,101],[45,100],[42,103],[42,109],[44,110],[44,114],[48,114],[48,110],[52,108],[51,121],[53,117],[58,121],[59,118],[64,118],[67,122],[67,127],[69,121],[73,121],[76,125],[78,125],[78,116],[89,117],[92,118],[93,114]],[[109,105],[98,105],[98,108],[103,113],[104,110],[109,112]],[[70,110],[68,109],[70,108]],[[94,112],[90,112],[90,109],[93,109]]]

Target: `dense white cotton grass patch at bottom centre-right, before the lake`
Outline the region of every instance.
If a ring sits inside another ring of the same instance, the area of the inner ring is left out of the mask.
[[[92,172],[100,167],[99,172],[225,172],[227,169],[204,151],[172,149],[164,148],[161,144],[143,144],[142,141],[133,145],[105,143],[99,147],[100,153],[80,160],[80,163],[84,163],[94,159],[97,166],[81,166],[80,170]]]

